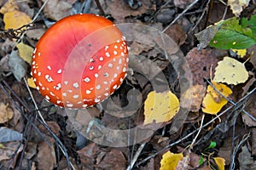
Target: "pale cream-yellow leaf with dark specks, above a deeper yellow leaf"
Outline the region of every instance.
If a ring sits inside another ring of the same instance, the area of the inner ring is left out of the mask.
[[[248,79],[248,72],[244,64],[230,57],[224,57],[223,60],[218,61],[214,75],[214,82],[226,82],[234,85],[246,82]]]

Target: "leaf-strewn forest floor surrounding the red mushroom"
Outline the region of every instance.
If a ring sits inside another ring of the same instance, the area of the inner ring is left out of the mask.
[[[0,7],[0,169],[256,169],[255,0],[0,0]],[[130,61],[111,97],[69,110],[32,88],[32,51],[55,21],[80,13],[112,20]],[[235,32],[251,29],[250,46],[237,46],[242,38],[229,44],[229,32],[214,37],[220,25],[206,31],[221,20],[249,23]]]

